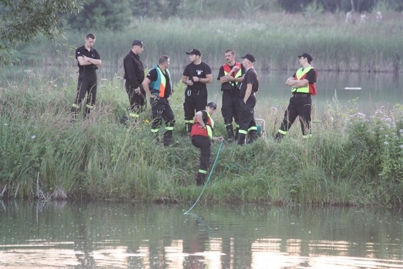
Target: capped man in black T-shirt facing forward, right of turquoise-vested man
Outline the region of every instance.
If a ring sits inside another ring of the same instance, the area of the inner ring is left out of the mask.
[[[194,113],[203,110],[207,104],[206,84],[213,81],[213,75],[210,66],[201,62],[201,53],[198,49],[193,48],[186,54],[189,56],[190,64],[185,67],[182,76],[182,82],[187,85],[183,110],[185,129],[190,133]]]

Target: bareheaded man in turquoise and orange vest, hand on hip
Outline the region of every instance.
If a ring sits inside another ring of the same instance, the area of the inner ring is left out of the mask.
[[[175,116],[169,105],[168,97],[172,94],[172,79],[169,74],[169,57],[163,55],[158,60],[143,81],[143,87],[150,96],[152,111],[151,132],[158,135],[161,120],[165,121],[164,146],[169,146],[172,139],[172,130],[175,124]]]

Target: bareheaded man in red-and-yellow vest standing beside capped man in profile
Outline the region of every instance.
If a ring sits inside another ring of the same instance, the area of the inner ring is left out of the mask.
[[[235,62],[235,51],[233,49],[227,49],[224,56],[227,63],[220,67],[217,79],[221,82],[221,91],[223,92],[221,114],[224,117],[228,141],[233,142],[238,138],[239,86],[245,75],[245,68],[241,63]],[[235,137],[232,118],[234,118],[236,125]]]

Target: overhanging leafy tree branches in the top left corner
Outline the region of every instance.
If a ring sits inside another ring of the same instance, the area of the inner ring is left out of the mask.
[[[0,0],[0,65],[10,63],[13,48],[40,33],[53,40],[62,30],[59,15],[79,10],[77,0]]]

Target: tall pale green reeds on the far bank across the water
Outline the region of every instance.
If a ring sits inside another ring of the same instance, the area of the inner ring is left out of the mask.
[[[171,67],[188,63],[185,51],[196,47],[202,59],[214,68],[223,64],[225,49],[238,56],[252,53],[255,67],[266,70],[295,69],[296,56],[304,51],[314,58],[321,71],[400,72],[403,51],[401,13],[385,13],[376,23],[370,14],[367,23],[346,24],[345,14],[256,14],[253,18],[133,20],[123,32],[96,31],[103,66],[120,67],[135,38],[146,43],[143,62],[152,66],[158,57],[171,57]],[[357,18],[358,21],[358,18]],[[89,29],[88,31],[92,31]],[[21,46],[23,64],[76,66],[74,50],[84,43],[85,32],[68,32],[55,46],[38,43]]]

